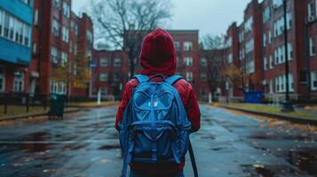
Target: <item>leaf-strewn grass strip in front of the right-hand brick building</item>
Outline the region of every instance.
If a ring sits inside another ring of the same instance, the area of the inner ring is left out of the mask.
[[[275,119],[288,120],[294,123],[317,125],[317,114],[315,111],[296,108],[295,112],[281,112],[278,106],[266,104],[213,104],[214,106],[247,112],[260,116],[267,116]]]

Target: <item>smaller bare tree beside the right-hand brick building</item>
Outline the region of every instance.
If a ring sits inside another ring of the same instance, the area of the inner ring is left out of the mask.
[[[206,58],[207,81],[211,94],[221,84],[221,66],[225,58],[223,35],[205,35],[201,43],[201,57]]]

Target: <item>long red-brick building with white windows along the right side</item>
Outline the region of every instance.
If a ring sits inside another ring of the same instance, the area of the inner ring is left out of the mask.
[[[226,58],[234,61],[236,52],[233,50],[238,48],[242,73],[249,74],[246,90],[264,91],[266,98],[271,100],[284,99],[286,91],[282,3],[282,0],[265,0],[259,4],[252,0],[244,12],[242,24],[230,26],[226,35],[226,41],[233,46],[227,48]],[[296,100],[317,98],[316,8],[315,0],[287,1],[289,91],[291,98]],[[239,30],[238,45],[231,43],[233,28]]]

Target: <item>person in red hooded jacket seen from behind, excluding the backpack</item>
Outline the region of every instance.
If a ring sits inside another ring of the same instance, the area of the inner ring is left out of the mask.
[[[176,50],[171,35],[158,28],[148,34],[142,43],[140,53],[141,73],[151,77],[157,73],[161,73],[165,78],[175,74],[176,71]],[[119,105],[115,119],[115,128],[119,130],[118,123],[123,119],[123,112],[131,99],[132,90],[136,88],[139,81],[132,79],[128,81],[123,89],[122,102]],[[191,133],[198,131],[201,124],[201,112],[194,94],[194,90],[190,83],[185,80],[179,80],[174,84],[185,106],[188,119],[192,123]],[[185,158],[181,159],[181,163],[174,164],[136,164],[131,163],[131,177],[181,177]]]

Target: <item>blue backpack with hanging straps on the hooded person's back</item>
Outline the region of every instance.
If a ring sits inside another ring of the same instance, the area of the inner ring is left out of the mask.
[[[155,77],[161,82],[151,81]],[[129,163],[180,163],[188,150],[191,122],[173,84],[182,79],[174,75],[166,80],[162,74],[151,78],[136,75],[139,85],[119,123],[120,144],[124,153],[123,177]],[[194,155],[190,149],[192,164]],[[195,175],[196,176],[196,175]]]

